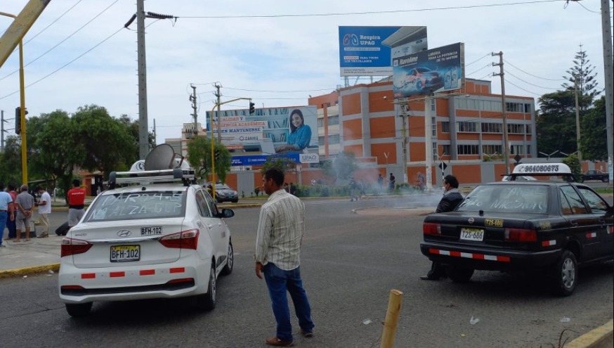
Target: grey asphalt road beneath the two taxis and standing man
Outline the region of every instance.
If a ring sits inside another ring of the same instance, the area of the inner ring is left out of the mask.
[[[392,289],[404,294],[395,347],[559,347],[561,334],[572,340],[612,318],[611,263],[582,269],[571,297],[551,295],[541,277],[499,272],[476,271],[465,284],[420,281],[430,266],[419,251],[422,217],[396,210],[412,205],[306,201],[301,273],[315,335],[295,335],[297,345],[379,347]],[[397,213],[352,212],[381,206]],[[218,280],[214,311],[175,300],[97,302],[91,316],[75,319],[59,302],[57,274],[5,278],[0,347],[266,347],[275,320],[266,285],[254,274],[259,209],[235,213],[228,219],[235,270]],[[65,214],[53,214],[52,226]]]

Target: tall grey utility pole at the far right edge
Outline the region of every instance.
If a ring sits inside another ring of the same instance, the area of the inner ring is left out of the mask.
[[[603,76],[606,77],[606,134],[608,139],[608,173],[610,184],[614,182],[614,96],[613,59],[612,59],[612,23],[610,22],[610,0],[601,0],[601,35],[603,38]]]

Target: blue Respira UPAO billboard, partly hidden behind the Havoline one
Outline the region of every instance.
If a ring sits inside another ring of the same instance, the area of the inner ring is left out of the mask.
[[[428,49],[426,27],[339,27],[341,76],[392,75],[392,59]]]

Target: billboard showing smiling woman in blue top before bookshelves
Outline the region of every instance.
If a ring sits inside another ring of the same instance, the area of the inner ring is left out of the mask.
[[[221,143],[231,151],[233,161],[235,156],[247,156],[245,160],[249,160],[250,165],[262,161],[257,156],[317,154],[317,115],[315,106],[258,108],[253,114],[248,109],[222,110],[219,117],[218,112],[214,112],[213,136],[218,138],[219,129]],[[210,117],[211,112],[207,112],[207,120]],[[297,155],[296,160],[299,159]]]

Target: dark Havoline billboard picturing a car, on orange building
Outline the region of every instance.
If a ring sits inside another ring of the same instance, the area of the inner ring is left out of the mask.
[[[464,88],[464,44],[393,58],[395,98]]]

